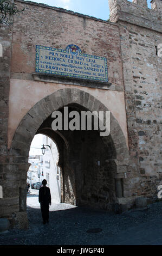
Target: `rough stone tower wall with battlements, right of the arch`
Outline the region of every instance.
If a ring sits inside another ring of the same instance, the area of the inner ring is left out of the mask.
[[[154,2],[161,4],[160,0]],[[162,70],[161,57],[157,56],[162,16],[158,10],[117,0],[113,1],[110,19],[120,25],[129,149],[134,167],[139,166],[140,171],[140,189],[135,193],[154,199],[162,172]]]

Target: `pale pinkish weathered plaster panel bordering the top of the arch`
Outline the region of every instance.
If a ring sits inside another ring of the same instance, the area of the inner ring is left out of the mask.
[[[125,100],[123,92],[99,90],[93,88],[68,86],[67,84],[54,84],[46,82],[35,82],[30,80],[10,80],[10,97],[9,97],[9,123],[8,123],[8,148],[10,148],[12,137],[17,129],[18,124],[25,114],[38,101],[63,88],[79,88],[92,94],[100,100],[112,112],[127,139],[127,124],[125,112]],[[28,95],[28,97],[27,97]]]

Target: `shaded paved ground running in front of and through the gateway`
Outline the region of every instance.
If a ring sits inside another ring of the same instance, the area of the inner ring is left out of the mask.
[[[1,234],[0,245],[162,245],[162,202],[121,215],[52,203],[43,225],[38,191],[31,190],[27,213],[29,229]]]

